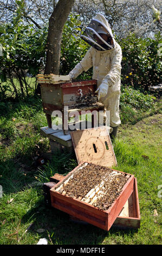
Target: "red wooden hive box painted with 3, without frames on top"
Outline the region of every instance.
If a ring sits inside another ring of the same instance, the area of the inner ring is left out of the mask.
[[[41,84],[41,97],[42,97],[42,105],[43,112],[46,113],[48,127],[51,128],[51,114],[53,111],[59,110],[62,112],[62,121],[64,122],[64,107],[68,107],[68,113],[72,113],[73,111],[76,114],[76,110],[79,114],[81,114],[82,109],[78,109],[77,97],[82,97],[87,94],[92,95],[92,98],[96,98],[94,96],[96,86],[96,80],[89,81],[77,81],[77,82],[64,82],[64,83],[54,83],[53,81],[43,82],[40,81]],[[88,108],[89,111],[93,111],[94,109],[103,110],[104,106],[100,104],[99,106],[92,105]],[[66,135],[68,132],[64,129],[63,124],[63,132]]]

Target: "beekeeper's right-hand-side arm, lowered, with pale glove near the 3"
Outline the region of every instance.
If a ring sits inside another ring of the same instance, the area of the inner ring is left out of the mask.
[[[115,49],[112,56],[111,69],[108,74],[103,78],[99,88],[96,90],[98,92],[98,98],[105,97],[108,92],[109,87],[115,87],[121,75],[121,59],[122,52],[120,46]]]

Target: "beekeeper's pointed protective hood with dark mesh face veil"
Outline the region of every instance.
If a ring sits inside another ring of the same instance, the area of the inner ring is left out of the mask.
[[[102,14],[96,14],[81,38],[98,51],[113,49],[115,45],[111,27]]]

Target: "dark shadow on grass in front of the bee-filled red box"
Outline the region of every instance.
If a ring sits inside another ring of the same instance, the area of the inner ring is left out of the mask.
[[[37,202],[35,208],[27,212],[22,218],[22,223],[33,220],[33,225],[29,229],[32,235],[36,235],[38,229],[44,229],[40,238],[46,238],[48,244],[53,245],[100,245],[109,236],[120,235],[124,237],[129,235],[133,237],[137,232],[135,229],[119,229],[112,227],[109,231],[102,230],[88,223],[76,223],[70,220],[68,214],[44,206],[43,200]],[[115,241],[114,241],[115,242]]]

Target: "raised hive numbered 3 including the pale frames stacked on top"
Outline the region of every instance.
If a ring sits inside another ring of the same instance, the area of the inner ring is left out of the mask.
[[[68,81],[67,81],[68,80]],[[51,128],[51,114],[53,111],[59,110],[62,112],[63,132],[67,134],[64,129],[64,107],[68,107],[67,114],[75,113],[81,114],[83,110],[103,110],[102,103],[97,102],[95,90],[96,80],[89,81],[70,81],[69,76],[56,76],[56,75],[37,75],[37,82],[41,84],[41,97],[43,112],[46,113],[48,127]],[[87,100],[83,105],[77,103],[80,99],[89,95],[90,101]],[[96,103],[97,102],[97,103]],[[80,107],[81,106],[81,107]]]

